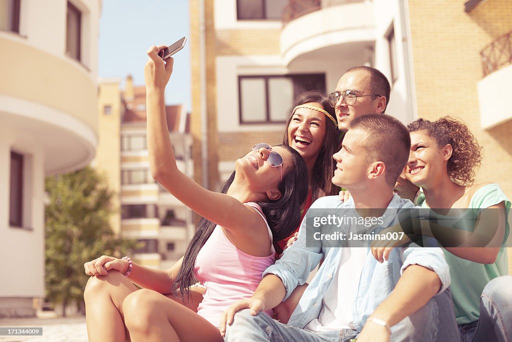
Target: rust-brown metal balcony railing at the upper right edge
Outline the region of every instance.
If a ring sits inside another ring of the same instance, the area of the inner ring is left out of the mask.
[[[512,31],[496,38],[480,51],[484,77],[512,64]]]

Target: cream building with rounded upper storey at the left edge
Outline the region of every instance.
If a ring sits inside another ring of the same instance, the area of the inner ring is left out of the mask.
[[[100,11],[99,0],[0,3],[0,317],[33,316],[45,296],[45,177],[95,154]]]

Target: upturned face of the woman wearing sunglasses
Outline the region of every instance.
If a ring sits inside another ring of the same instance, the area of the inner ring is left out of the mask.
[[[273,167],[267,162],[272,151],[283,157],[281,166]],[[247,178],[251,191],[263,193],[277,189],[281,183],[281,170],[284,177],[292,167],[293,162],[290,152],[281,146],[272,146],[272,151],[261,148],[237,159],[235,165],[237,174],[243,174]]]

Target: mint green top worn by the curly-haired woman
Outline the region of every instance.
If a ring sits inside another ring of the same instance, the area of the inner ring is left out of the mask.
[[[505,202],[505,238],[503,240],[505,242],[510,230],[507,220],[510,200],[505,196],[499,185],[488,184],[478,189],[471,198],[469,207],[470,209],[476,209],[470,211],[472,214],[471,219],[475,219],[484,209],[501,202]],[[421,204],[421,207],[428,208],[426,201]],[[457,223],[454,226],[457,226]],[[473,261],[459,258],[444,249],[443,251],[446,261],[450,266],[450,276],[452,278],[450,288],[452,290],[457,324],[461,325],[477,321],[480,317],[480,296],[482,295],[483,288],[490,280],[508,274],[507,249],[503,245],[498,253],[496,262],[490,265],[474,263]]]

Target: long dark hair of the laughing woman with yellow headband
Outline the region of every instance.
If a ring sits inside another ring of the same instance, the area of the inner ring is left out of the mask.
[[[329,99],[324,92],[319,90],[310,90],[301,93],[295,98],[293,107],[290,110],[290,117],[286,123],[286,129],[283,136],[283,145],[289,146],[288,127],[290,126],[290,122],[293,117],[293,115],[291,115],[293,108],[310,102],[321,104],[326,112],[331,114],[332,117],[336,117],[336,114],[334,114],[334,108],[329,104]],[[335,195],[338,193],[337,187],[332,184],[331,179],[334,173],[334,160],[332,155],[336,152],[339,144],[339,132],[336,125],[327,117],[325,118],[325,126],[324,144],[318,152],[311,175],[311,194],[313,202],[319,197]]]

